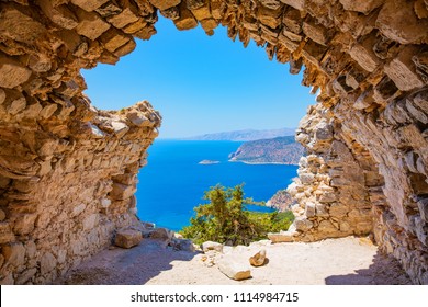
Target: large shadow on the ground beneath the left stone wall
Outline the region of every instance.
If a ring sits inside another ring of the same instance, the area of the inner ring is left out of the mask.
[[[196,252],[178,251],[164,241],[146,239],[132,249],[113,248],[70,270],[55,284],[140,285],[171,270],[172,261],[190,261]]]

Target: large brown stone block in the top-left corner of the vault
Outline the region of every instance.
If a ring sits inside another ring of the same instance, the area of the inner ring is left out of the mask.
[[[32,44],[35,39],[46,34],[46,29],[32,18],[29,9],[2,3],[0,33],[18,42]]]

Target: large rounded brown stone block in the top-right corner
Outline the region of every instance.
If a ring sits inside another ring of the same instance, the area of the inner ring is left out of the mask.
[[[379,12],[375,25],[382,34],[399,44],[420,44],[428,37],[428,20],[415,14],[414,2],[388,0]]]

